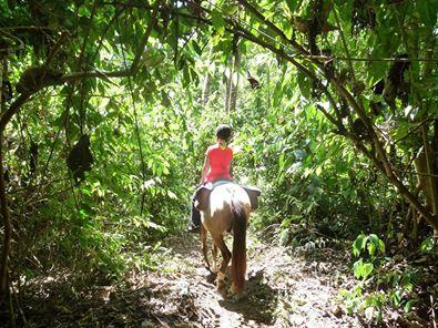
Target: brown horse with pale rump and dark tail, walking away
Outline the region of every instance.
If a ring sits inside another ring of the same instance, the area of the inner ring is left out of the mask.
[[[249,213],[257,208],[257,197],[261,191],[243,187],[233,182],[217,182],[212,186],[201,187],[194,195],[195,207],[201,212],[202,253],[206,267],[211,269],[206,238],[207,233],[213,240],[213,262],[216,266],[217,248],[222,254],[222,264],[217,271],[218,290],[224,288],[224,279],[230,259],[231,288],[230,294],[235,298],[243,296],[246,274],[246,227]],[[224,242],[224,234],[233,232],[233,249],[230,252]]]

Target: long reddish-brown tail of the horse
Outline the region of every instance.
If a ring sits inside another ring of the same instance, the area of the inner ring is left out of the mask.
[[[233,257],[231,265],[232,281],[236,291],[243,290],[246,273],[246,212],[241,203],[232,203],[233,213]]]

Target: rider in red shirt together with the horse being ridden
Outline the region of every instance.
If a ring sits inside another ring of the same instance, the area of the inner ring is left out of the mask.
[[[231,162],[233,151],[227,146],[231,127],[220,125],[216,131],[217,143],[206,151],[202,172],[202,185],[192,198],[192,227],[201,226],[202,253],[206,268],[216,275],[217,289],[224,287],[224,279],[230,260],[230,294],[235,299],[244,296],[246,273],[246,227],[249,213],[258,206],[258,188],[244,187],[233,182]],[[230,252],[224,235],[233,232],[233,247]],[[213,270],[207,256],[207,233],[213,242]],[[222,264],[217,270],[217,248],[222,254]]]

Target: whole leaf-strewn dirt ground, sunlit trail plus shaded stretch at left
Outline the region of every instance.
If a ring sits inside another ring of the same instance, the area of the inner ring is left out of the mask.
[[[277,234],[274,234],[275,236]],[[227,239],[230,245],[231,238]],[[247,237],[247,298],[221,295],[201,257],[197,235],[165,240],[160,269],[131,273],[118,286],[85,284],[69,275],[44,279],[21,309],[28,327],[363,327],[337,305],[348,260],[342,248],[301,254]],[[310,247],[312,248],[312,247]],[[230,284],[230,281],[226,281]],[[86,287],[92,286],[94,287]],[[227,285],[230,286],[230,285]],[[74,290],[73,290],[74,289]],[[43,300],[43,301],[42,301]],[[1,320],[0,320],[1,321]],[[0,327],[2,325],[0,324]]]

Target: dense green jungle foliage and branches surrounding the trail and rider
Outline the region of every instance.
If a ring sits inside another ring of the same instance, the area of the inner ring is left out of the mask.
[[[432,316],[437,11],[435,0],[0,0],[2,314],[41,277],[155,269],[227,123],[235,180],[263,191],[252,229],[277,225],[293,248],[347,245],[348,314]]]

